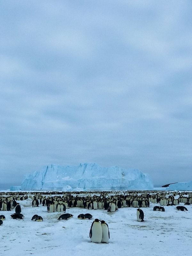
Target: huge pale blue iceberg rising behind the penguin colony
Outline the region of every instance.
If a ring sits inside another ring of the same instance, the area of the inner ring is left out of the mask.
[[[78,166],[47,165],[41,171],[26,174],[21,183],[22,190],[64,188],[71,190],[113,190],[113,189],[153,189],[148,174],[136,169],[122,169],[118,166],[100,167],[86,163]]]

